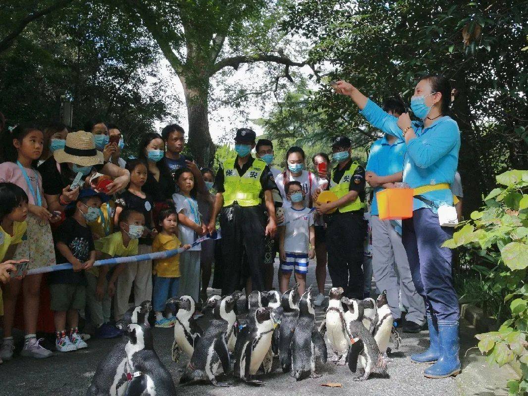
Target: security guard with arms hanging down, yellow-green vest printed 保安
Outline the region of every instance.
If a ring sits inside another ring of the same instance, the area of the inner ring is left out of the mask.
[[[218,193],[208,229],[214,231],[220,212],[222,295],[242,287],[246,287],[247,294],[250,289],[263,291],[265,287],[262,263],[265,238],[274,237],[277,229],[271,192],[277,185],[266,162],[251,156],[255,138],[251,129],[237,130],[237,157],[225,159],[216,173]],[[262,199],[269,214],[267,224]]]

